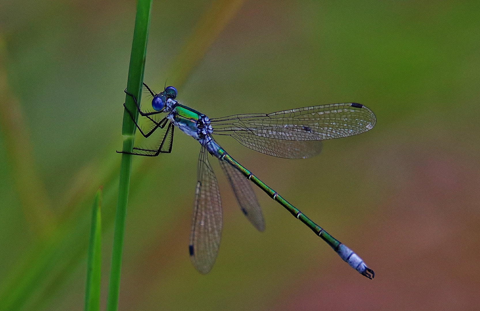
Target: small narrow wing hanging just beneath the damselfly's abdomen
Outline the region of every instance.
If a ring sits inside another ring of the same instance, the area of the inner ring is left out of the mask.
[[[239,203],[243,214],[247,216],[253,227],[257,228],[258,231],[264,231],[264,215],[262,215],[262,208],[257,201],[257,196],[252,189],[250,181],[243,176],[238,169],[227,162],[220,160],[220,166],[230,181],[233,193],[237,198],[237,202]]]

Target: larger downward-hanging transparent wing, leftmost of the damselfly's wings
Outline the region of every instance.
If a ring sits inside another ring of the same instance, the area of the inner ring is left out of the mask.
[[[222,202],[207,156],[208,152],[202,147],[198,158],[198,181],[189,245],[192,263],[202,274],[208,273],[215,263],[222,231]]]

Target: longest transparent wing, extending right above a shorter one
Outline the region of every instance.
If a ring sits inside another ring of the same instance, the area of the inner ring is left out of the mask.
[[[356,104],[331,104],[278,111],[270,114],[235,115],[212,119],[218,134],[250,134],[265,138],[310,141],[347,137],[371,130],[372,110]]]

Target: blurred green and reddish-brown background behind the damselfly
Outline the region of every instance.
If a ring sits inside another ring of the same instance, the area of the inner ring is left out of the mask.
[[[216,2],[154,1],[157,92]],[[104,308],[135,1],[2,0],[0,15],[0,309],[83,310],[100,184]],[[245,1],[214,39],[177,98],[211,118],[338,102],[376,114],[306,160],[218,139],[375,279],[261,191],[257,232],[216,161],[224,229],[200,275],[187,247],[200,148],[177,132],[170,155],[135,159],[120,310],[478,308],[480,2]]]

